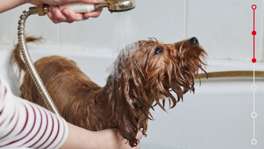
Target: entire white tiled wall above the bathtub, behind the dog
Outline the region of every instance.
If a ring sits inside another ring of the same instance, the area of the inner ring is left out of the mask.
[[[138,26],[139,38],[156,37],[166,43],[196,36],[213,59],[252,59],[253,10],[256,4],[256,58],[263,61],[263,0],[136,0],[131,10]],[[17,42],[20,6],[0,14],[0,43]],[[99,18],[72,24],[51,23],[47,16],[30,16],[26,23],[29,36],[42,36],[45,44],[74,45],[84,49],[112,50],[113,14],[104,9]]]

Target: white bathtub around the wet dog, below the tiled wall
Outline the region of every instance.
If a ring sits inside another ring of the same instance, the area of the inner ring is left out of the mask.
[[[9,57],[12,47],[0,47],[0,70],[16,95],[17,81],[10,74]],[[48,49],[48,50],[47,50]],[[95,83],[105,84],[106,68],[112,63],[112,54],[105,51],[81,48],[31,47],[31,56],[37,60],[43,56],[60,55],[75,60],[79,67]],[[263,70],[263,63],[256,69]],[[250,62],[210,60],[208,71],[252,70]],[[166,113],[156,107],[152,115],[156,120],[148,122],[148,136],[141,140],[142,149],[263,149],[264,148],[264,83],[256,78],[255,139],[253,139],[253,91],[252,79],[202,80],[196,82],[195,94],[187,93]]]

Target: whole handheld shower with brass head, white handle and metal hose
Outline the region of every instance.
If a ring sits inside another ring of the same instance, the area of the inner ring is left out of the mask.
[[[108,10],[112,12],[122,12],[132,10],[136,7],[135,0],[104,0],[99,4],[84,4],[79,2],[68,3],[60,5],[59,8],[69,8],[75,12],[84,13],[91,12],[93,10],[102,9],[107,7]],[[50,11],[49,5],[43,4],[39,6],[30,7],[28,11],[23,11],[23,14],[20,16],[18,21],[18,44],[22,57],[26,64],[26,68],[31,76],[31,79],[35,83],[43,101],[47,105],[47,108],[54,112],[55,114],[60,115],[59,110],[55,106],[51,96],[49,95],[45,85],[43,84],[42,79],[39,77],[33,61],[30,57],[27,45],[26,45],[26,35],[25,35],[25,23],[26,19],[32,14],[39,14],[39,16],[46,15]]]

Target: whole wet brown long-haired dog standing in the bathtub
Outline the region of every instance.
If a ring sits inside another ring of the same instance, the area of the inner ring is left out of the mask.
[[[138,45],[130,56],[120,54],[115,63],[119,77],[113,73],[104,87],[91,81],[67,58],[44,57],[35,62],[35,67],[67,122],[93,131],[119,128],[133,147],[138,143],[138,129],[146,135],[148,119],[152,117],[150,108],[159,105],[165,110],[165,100],[161,104],[160,98],[169,98],[173,108],[183,94],[194,92],[194,77],[199,69],[205,72],[202,66],[207,57],[195,37],[173,44],[150,39],[139,41]],[[18,46],[11,64],[26,69]],[[22,98],[46,107],[27,71],[20,89]]]

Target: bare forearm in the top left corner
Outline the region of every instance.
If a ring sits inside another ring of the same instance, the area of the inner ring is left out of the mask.
[[[27,0],[0,0],[0,13],[23,5]]]

